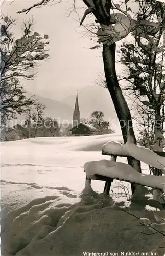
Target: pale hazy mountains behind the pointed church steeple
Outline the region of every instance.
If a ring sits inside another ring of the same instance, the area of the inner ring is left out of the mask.
[[[26,96],[31,97],[32,92],[27,92]],[[38,101],[46,106],[45,116],[57,119],[59,122],[67,120],[72,122],[73,111],[75,107],[76,92],[62,100],[50,99],[35,95]],[[116,118],[115,109],[108,89],[100,86],[86,86],[78,91],[80,117],[89,118],[90,114],[95,111],[103,111],[105,120],[110,121]],[[19,116],[19,120],[23,120],[23,116]],[[115,120],[116,125],[118,121]]]

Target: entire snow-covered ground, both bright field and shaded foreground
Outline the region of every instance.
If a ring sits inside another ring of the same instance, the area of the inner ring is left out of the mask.
[[[138,221],[101,193],[104,182],[92,181],[93,190],[101,194],[91,191],[92,196],[85,192],[80,196],[84,163],[110,159],[101,155],[102,145],[122,140],[120,134],[111,134],[2,142],[2,256],[76,256],[84,255],[83,251],[110,253],[138,246],[141,251],[155,249],[163,237],[144,236],[142,246]],[[112,196],[121,193],[116,182],[112,191]]]

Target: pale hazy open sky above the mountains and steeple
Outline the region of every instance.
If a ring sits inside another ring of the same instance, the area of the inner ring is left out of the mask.
[[[16,13],[36,2],[15,0],[11,4],[5,0],[2,12],[18,18],[13,28],[17,36],[21,34],[23,20],[32,18],[32,15],[34,31],[49,35],[50,59],[40,62],[37,77],[33,81],[25,81],[25,86],[32,93],[60,100],[84,86],[93,85],[99,73],[103,73],[102,49],[90,50],[89,47],[96,43],[83,36],[85,30],[80,27],[76,15],[68,17],[71,0],[51,7],[34,8],[27,15]],[[79,0],[78,4],[83,5],[83,1]],[[84,11],[79,9],[78,12],[82,16]],[[120,70],[119,65],[116,68]]]

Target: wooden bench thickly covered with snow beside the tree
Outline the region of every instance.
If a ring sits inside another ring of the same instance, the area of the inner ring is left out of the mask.
[[[129,142],[125,145],[119,142],[107,142],[102,147],[102,155],[111,156],[110,160],[90,161],[84,164],[86,185],[91,180],[105,181],[104,193],[109,195],[111,183],[114,179],[133,184],[144,185],[164,191],[165,176],[153,176],[138,173],[126,163],[116,162],[117,157],[133,157],[165,173],[165,152],[151,151]],[[133,193],[134,191],[132,191]]]

